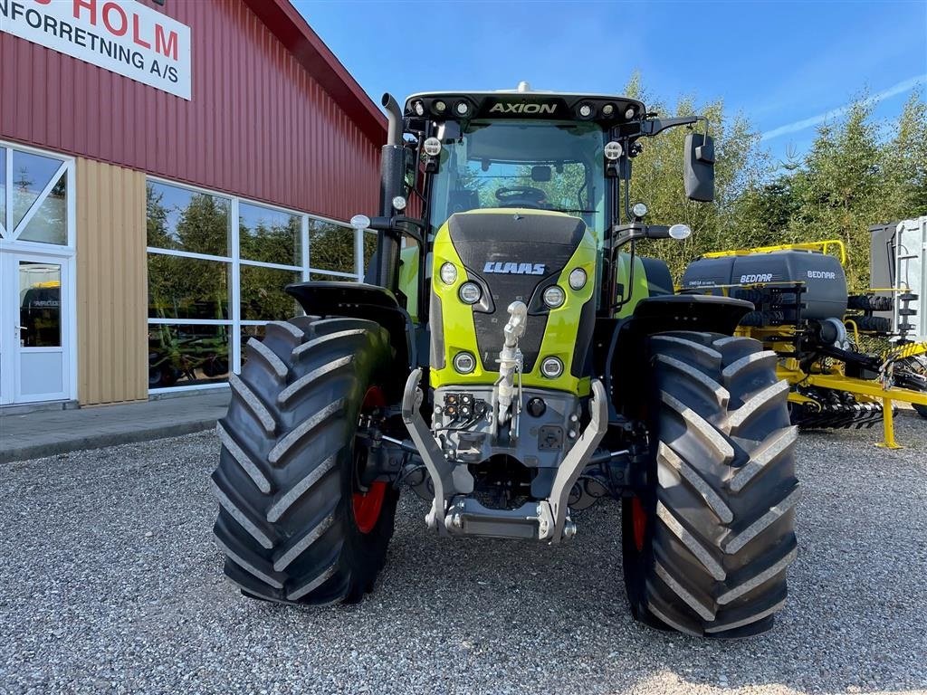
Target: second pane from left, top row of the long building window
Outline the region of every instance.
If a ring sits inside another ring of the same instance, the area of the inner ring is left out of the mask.
[[[259,205],[238,205],[239,255],[243,259],[262,260],[281,265],[302,265],[299,237],[302,235],[297,215]]]

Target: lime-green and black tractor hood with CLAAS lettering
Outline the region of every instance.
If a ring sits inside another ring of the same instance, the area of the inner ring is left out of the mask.
[[[441,267],[447,263],[456,269],[451,284],[445,282],[447,273],[442,278]],[[577,269],[586,278],[579,287],[569,283],[570,272]],[[436,335],[435,323],[441,322],[445,340],[433,345],[443,354],[433,350],[432,366],[437,362],[448,368],[457,350],[469,349],[477,358],[479,371],[497,372],[508,307],[522,301],[528,310],[527,329],[519,346],[524,373],[536,371],[539,357],[554,356],[564,362],[565,376],[579,374],[586,351],[581,334],[587,332],[587,323],[591,333],[594,318],[595,269],[595,239],[577,217],[526,208],[488,208],[451,215],[435,238],[432,335]],[[480,288],[473,303],[461,292],[467,282]],[[553,285],[563,290],[563,302],[558,306],[544,301],[545,291]],[[452,336],[464,334],[473,340],[456,341],[468,345],[455,344]],[[577,350],[582,356],[574,360]]]

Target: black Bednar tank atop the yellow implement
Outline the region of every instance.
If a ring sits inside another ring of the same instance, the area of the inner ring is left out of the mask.
[[[806,319],[843,319],[846,276],[840,259],[812,251],[774,251],[746,256],[699,259],[682,275],[684,289],[711,285],[805,283],[802,311]],[[714,294],[720,294],[716,291]]]

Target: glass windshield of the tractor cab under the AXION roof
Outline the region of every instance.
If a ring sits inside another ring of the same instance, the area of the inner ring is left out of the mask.
[[[484,120],[441,151],[431,188],[432,233],[455,212],[537,208],[581,218],[601,245],[603,131],[595,123]]]

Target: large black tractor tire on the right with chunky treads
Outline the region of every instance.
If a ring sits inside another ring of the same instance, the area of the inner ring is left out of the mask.
[[[767,630],[794,561],[797,430],[756,340],[654,335],[649,484],[622,502],[625,582],[642,622],[717,638]]]

